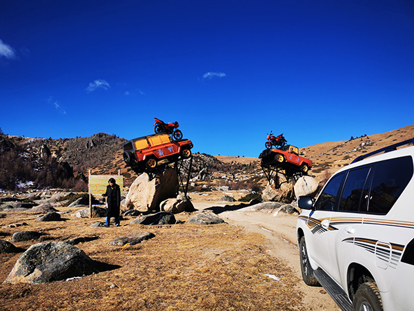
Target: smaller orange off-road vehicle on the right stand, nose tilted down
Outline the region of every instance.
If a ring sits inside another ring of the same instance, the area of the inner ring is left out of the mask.
[[[280,149],[266,149],[259,156],[263,166],[275,165],[279,167],[291,167],[308,173],[312,167],[312,161],[299,156],[299,149],[290,144]]]

